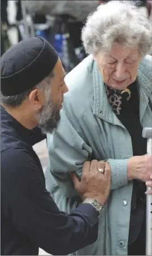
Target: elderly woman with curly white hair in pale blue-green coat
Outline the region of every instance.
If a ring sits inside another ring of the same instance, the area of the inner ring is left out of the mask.
[[[70,212],[81,203],[70,172],[81,177],[85,160],[106,160],[111,193],[98,240],[76,254],[145,255],[152,158],[142,128],[151,127],[152,117],[150,24],[133,3],[110,1],[88,17],[82,40],[89,56],[66,76],[61,122],[47,136],[47,188],[60,210]]]

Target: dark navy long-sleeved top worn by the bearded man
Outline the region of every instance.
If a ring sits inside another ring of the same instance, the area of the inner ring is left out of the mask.
[[[60,212],[45,188],[32,145],[39,128],[24,128],[1,106],[1,255],[70,254],[97,239],[98,214],[83,204]]]

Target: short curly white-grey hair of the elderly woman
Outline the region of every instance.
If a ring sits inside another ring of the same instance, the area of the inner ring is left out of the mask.
[[[99,5],[82,28],[82,42],[88,54],[109,52],[115,43],[138,47],[142,56],[150,53],[151,25],[138,10],[139,1],[110,1]]]

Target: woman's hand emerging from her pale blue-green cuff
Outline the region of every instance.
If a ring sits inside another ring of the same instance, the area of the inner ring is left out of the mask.
[[[129,158],[127,172],[128,180],[138,179],[144,181],[145,183],[150,181],[152,172],[152,156],[141,155]]]

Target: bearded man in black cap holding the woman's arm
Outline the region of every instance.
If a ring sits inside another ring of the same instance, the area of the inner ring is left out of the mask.
[[[38,248],[64,255],[97,240],[108,165],[85,162],[82,180],[71,176],[83,202],[67,215],[47,192],[32,147],[58,127],[64,76],[58,54],[41,37],[19,42],[1,58],[1,255],[38,255]]]

